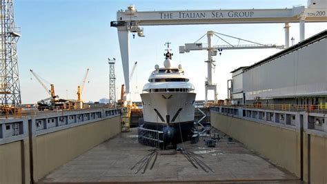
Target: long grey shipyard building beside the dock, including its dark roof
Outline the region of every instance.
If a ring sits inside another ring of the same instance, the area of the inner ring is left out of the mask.
[[[327,30],[262,61],[232,71],[232,104],[326,107]]]

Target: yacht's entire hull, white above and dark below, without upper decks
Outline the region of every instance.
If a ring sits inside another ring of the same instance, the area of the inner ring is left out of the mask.
[[[166,145],[188,141],[194,126],[195,93],[155,92],[143,93],[143,122],[140,127],[162,133]],[[159,136],[158,136],[159,137]]]

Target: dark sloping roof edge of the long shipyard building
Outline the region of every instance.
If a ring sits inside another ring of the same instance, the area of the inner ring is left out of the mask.
[[[250,70],[252,68],[256,68],[259,65],[263,65],[264,63],[268,63],[270,61],[273,61],[274,59],[277,59],[278,57],[282,57],[286,54],[289,54],[290,52],[293,52],[295,50],[299,50],[299,48],[303,48],[306,45],[309,45],[311,43],[314,43],[316,41],[319,41],[321,39],[325,39],[327,37],[327,30],[324,30],[322,32],[319,32],[318,34],[313,35],[313,37],[310,37],[308,39],[305,39],[304,41],[301,41],[293,46],[291,46],[290,48],[287,48],[285,50],[282,50],[281,52],[277,52],[276,54],[273,54],[270,57],[267,57],[266,59],[263,59],[257,63],[254,63],[253,65],[248,66],[247,68],[245,68],[244,70]],[[240,68],[237,68],[237,70],[239,70]],[[234,70],[232,72],[236,72],[237,70]]]

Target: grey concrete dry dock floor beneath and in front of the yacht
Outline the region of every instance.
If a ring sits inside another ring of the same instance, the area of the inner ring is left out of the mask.
[[[219,132],[221,136],[224,133]],[[48,174],[40,183],[301,183],[294,174],[247,150],[237,141],[220,139],[216,147],[199,143],[179,144],[204,156],[215,172],[196,169],[175,150],[158,150],[152,170],[135,174],[130,168],[152,147],[137,142],[137,130],[121,133]]]

